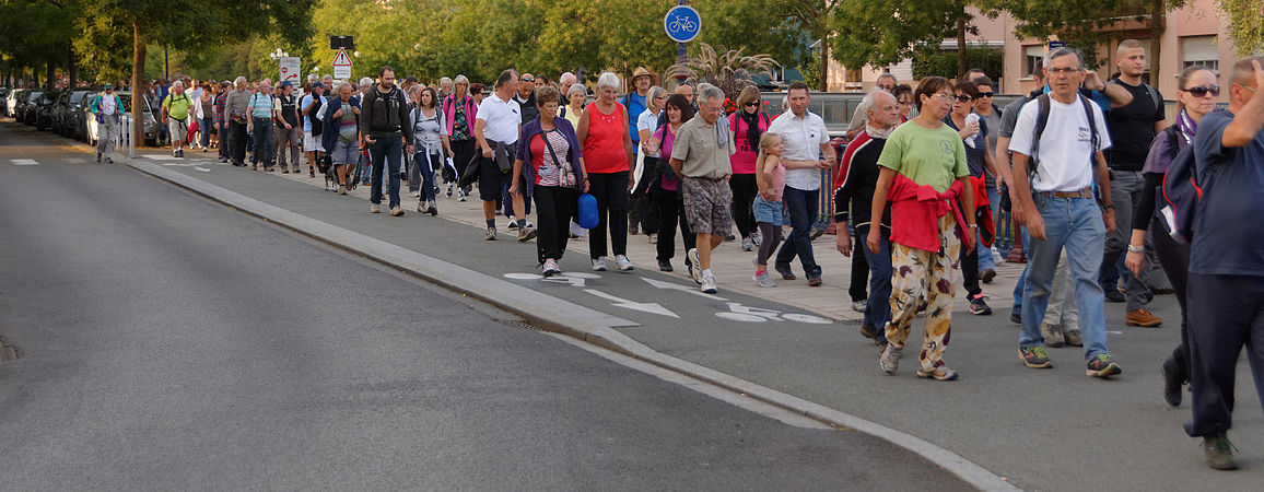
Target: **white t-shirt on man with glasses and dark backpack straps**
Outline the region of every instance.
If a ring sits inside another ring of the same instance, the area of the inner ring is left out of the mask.
[[[1078,96],[1082,97],[1082,96]],[[1081,100],[1072,104],[1058,102],[1049,97],[1049,120],[1040,135],[1040,156],[1036,163],[1033,191],[1079,191],[1093,182],[1096,167],[1093,154],[1110,148],[1110,133],[1106,132],[1106,119],[1096,104],[1090,104],[1093,121],[1097,121],[1097,148],[1092,147],[1092,130],[1088,129],[1088,115]],[[1014,138],[1010,151],[1031,156],[1035,138],[1035,120],[1040,113],[1040,101],[1031,100],[1023,105],[1018,123],[1014,125]],[[1028,164],[1030,169],[1030,163]]]

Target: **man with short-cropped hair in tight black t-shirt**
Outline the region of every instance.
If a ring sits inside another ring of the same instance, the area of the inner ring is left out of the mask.
[[[1145,47],[1135,39],[1126,39],[1119,43],[1115,65],[1119,67],[1119,80],[1110,83],[1127,90],[1133,96],[1124,104],[1115,102],[1106,115],[1106,124],[1110,129],[1114,147],[1106,151],[1106,162],[1111,169],[1111,196],[1115,201],[1115,231],[1106,237],[1106,254],[1102,257],[1098,282],[1106,292],[1106,298],[1119,302],[1119,291],[1115,283],[1119,280],[1119,259],[1127,248],[1133,223],[1133,209],[1141,199],[1141,167],[1145,164],[1145,156],[1150,152],[1150,143],[1154,135],[1167,126],[1167,113],[1163,108],[1163,95],[1141,81],[1145,73]],[[1149,243],[1149,240],[1146,240]],[[1146,272],[1144,267],[1140,278],[1127,272],[1127,325],[1129,326],[1160,326],[1163,320],[1150,314],[1145,307],[1149,304],[1149,288],[1146,287]]]

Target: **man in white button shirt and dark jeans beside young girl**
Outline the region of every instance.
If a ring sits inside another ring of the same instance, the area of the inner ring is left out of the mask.
[[[829,132],[825,120],[808,111],[811,96],[808,86],[794,82],[787,91],[790,111],[781,114],[769,125],[770,134],[780,135],[785,151],[781,161],[786,166],[786,187],[782,201],[790,212],[790,225],[794,230],[777,252],[774,268],[781,278],[794,280],[790,262],[799,257],[808,286],[820,286],[820,266],[811,254],[811,221],[817,218],[817,204],[820,195],[820,172],[829,169],[837,161],[834,148],[829,144]]]

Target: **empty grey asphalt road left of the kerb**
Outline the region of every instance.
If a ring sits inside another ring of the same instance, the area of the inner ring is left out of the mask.
[[[0,125],[0,488],[963,488],[53,143]]]

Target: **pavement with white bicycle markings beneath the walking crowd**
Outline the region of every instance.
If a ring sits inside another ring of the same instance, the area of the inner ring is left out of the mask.
[[[1207,470],[1198,441],[1186,438],[1179,427],[1188,417],[1188,406],[1168,409],[1160,398],[1157,367],[1176,341],[1174,324],[1125,328],[1119,305],[1107,309],[1111,349],[1125,368],[1114,381],[1085,377],[1083,355],[1077,349],[1052,350],[1054,369],[1025,369],[1016,358],[1015,325],[1000,314],[976,317],[964,311],[956,312],[947,354],[962,372],[962,381],[918,379],[908,368],[914,363],[909,358],[900,374],[887,377],[876,368],[876,349],[856,334],[854,323],[814,323],[819,321],[814,317],[854,316],[847,315],[848,268],[841,255],[827,252],[828,242],[817,242],[827,282],[817,290],[743,290],[748,271],[738,272],[751,253],[726,244],[718,254],[724,300],[694,295],[691,281],[683,274],[647,271],[652,253],[641,240],[633,240],[629,252],[641,269],[581,278],[580,288],[578,281],[530,277],[532,245],[483,242],[475,202],[441,199],[440,218],[410,212],[392,219],[368,215],[362,200],[320,191],[320,181],[306,175],[282,178],[196,158],[173,162],[157,156],[138,162],[162,164],[482,273],[509,274],[542,293],[628,320],[629,326],[621,331],[661,353],[909,433],[1023,488],[1254,489],[1264,478],[1264,421],[1254,391],[1245,387],[1240,392],[1234,430],[1248,468],[1237,473]],[[562,268],[585,272],[583,252],[583,245],[573,249]],[[1002,267],[996,285],[1002,287],[987,288],[994,301],[1012,286],[1016,268]],[[803,301],[803,293],[815,292],[822,292],[823,300]],[[1170,296],[1159,296],[1152,309],[1168,320],[1178,317]],[[1239,381],[1250,381],[1245,366]]]

